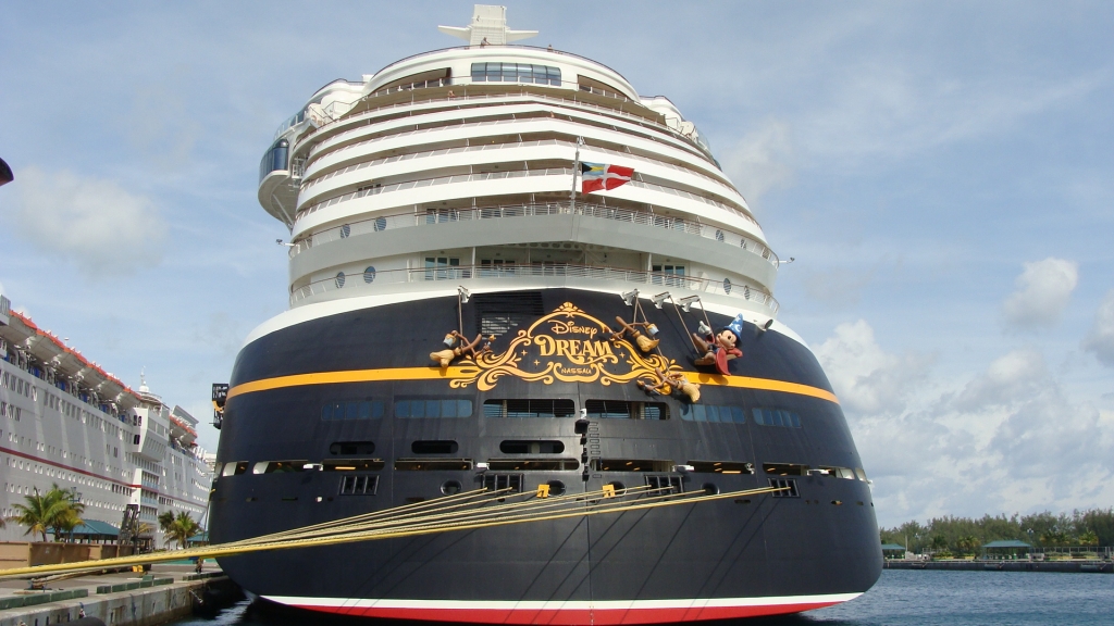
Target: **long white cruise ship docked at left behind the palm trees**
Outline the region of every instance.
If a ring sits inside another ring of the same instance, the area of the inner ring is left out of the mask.
[[[188,512],[204,524],[212,470],[197,420],[145,383],[138,391],[63,338],[11,310],[0,294],[0,513],[26,496],[74,489],[89,532],[140,549],[167,546],[158,516]],[[89,524],[104,522],[113,527]],[[107,532],[105,532],[107,531]],[[38,541],[8,520],[7,541]]]

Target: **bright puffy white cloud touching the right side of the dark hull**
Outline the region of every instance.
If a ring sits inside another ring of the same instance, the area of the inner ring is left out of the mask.
[[[814,352],[840,402],[856,413],[901,411],[929,362],[920,355],[885,352],[864,320],[840,324]]]

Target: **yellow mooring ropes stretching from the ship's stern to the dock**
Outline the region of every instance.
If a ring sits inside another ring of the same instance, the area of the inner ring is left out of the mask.
[[[671,488],[649,486],[632,487],[616,493],[605,489],[586,493],[547,496],[537,492],[511,493],[510,489],[488,491],[477,489],[437,498],[427,502],[404,505],[382,511],[363,513],[324,524],[315,524],[282,532],[274,532],[216,546],[150,552],[99,560],[39,565],[0,570],[0,579],[38,577],[58,573],[96,571],[184,558],[216,558],[250,552],[334,546],[356,541],[397,539],[419,535],[433,535],[458,530],[476,530],[517,524],[531,524],[558,519],[623,513],[678,505],[694,505],[783,491],[785,488],[766,487],[727,493],[694,491],[673,493]],[[626,496],[641,496],[625,499]]]

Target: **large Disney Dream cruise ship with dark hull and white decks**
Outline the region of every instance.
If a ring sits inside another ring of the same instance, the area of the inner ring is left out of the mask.
[[[706,138],[603,63],[514,45],[536,33],[502,7],[440,30],[467,45],[330,82],[264,151],[290,309],[231,375],[214,541],[480,488],[773,491],[224,570],[289,606],[466,623],[790,614],[870,588],[867,473]]]

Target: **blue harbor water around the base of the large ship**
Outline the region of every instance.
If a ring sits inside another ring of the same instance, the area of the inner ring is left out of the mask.
[[[367,622],[261,612],[244,601],[213,619],[176,626],[352,626]],[[714,623],[723,626],[724,622]],[[1012,571],[885,570],[858,599],[801,615],[737,620],[739,626],[1114,626],[1114,576]]]

